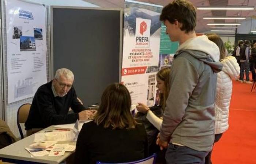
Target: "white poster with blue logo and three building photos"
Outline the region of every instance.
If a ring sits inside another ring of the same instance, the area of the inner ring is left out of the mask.
[[[33,97],[46,77],[46,7],[5,1],[8,103]]]

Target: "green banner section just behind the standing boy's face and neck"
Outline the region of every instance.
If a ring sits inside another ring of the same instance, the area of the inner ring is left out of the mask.
[[[175,54],[178,49],[178,42],[170,41],[168,35],[165,34],[166,27],[161,24],[161,36],[160,36],[160,54]]]

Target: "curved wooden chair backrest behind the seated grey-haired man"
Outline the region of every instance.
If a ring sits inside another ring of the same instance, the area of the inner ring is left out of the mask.
[[[17,112],[17,125],[20,133],[20,138],[24,138],[22,129],[20,127],[20,123],[25,123],[27,121],[27,117],[29,116],[31,104],[23,104],[19,107]]]

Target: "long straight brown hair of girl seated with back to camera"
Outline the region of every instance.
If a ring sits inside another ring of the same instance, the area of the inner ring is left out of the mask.
[[[113,83],[102,94],[95,123],[102,124],[104,128],[135,128],[137,122],[133,119],[130,108],[131,96],[127,88],[123,84]]]

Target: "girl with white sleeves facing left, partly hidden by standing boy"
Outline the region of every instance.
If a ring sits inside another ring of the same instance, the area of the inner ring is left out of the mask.
[[[148,107],[142,103],[138,103],[136,109],[139,111],[135,118],[144,124],[148,136],[149,154],[156,153],[156,163],[164,164],[165,152],[160,151],[155,144],[157,135],[162,125],[163,110],[165,109],[165,101],[168,97],[170,84],[170,67],[165,67],[157,73],[157,88],[159,90],[159,105]],[[156,103],[157,104],[157,103]]]

